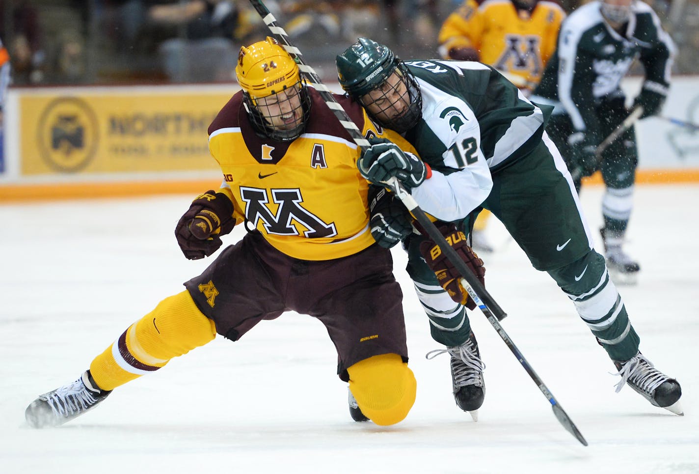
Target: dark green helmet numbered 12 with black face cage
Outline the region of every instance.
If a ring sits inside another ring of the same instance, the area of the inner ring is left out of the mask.
[[[420,120],[422,96],[419,84],[408,66],[388,46],[369,38],[358,38],[335,58],[335,64],[345,92],[361,103],[370,117],[383,127],[403,133]],[[391,80],[392,86],[387,85],[394,74],[398,80]],[[404,87],[398,87],[394,82]],[[375,90],[384,91],[383,98],[387,99],[384,103],[388,105],[383,110],[373,106],[376,97],[368,100],[368,94]],[[391,108],[401,110],[401,113],[389,116],[387,110]]]

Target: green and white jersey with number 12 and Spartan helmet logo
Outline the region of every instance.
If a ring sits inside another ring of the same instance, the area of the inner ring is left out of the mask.
[[[550,108],[535,106],[479,62],[405,64],[422,95],[421,120],[405,138],[432,168],[431,178],[412,189],[412,196],[440,220],[461,220],[490,194],[491,173],[540,143]]]

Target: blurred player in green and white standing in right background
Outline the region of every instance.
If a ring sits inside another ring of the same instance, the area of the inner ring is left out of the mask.
[[[607,266],[618,281],[634,282],[640,269],[621,248],[633,209],[637,166],[636,139],[630,127],[600,155],[596,148],[628,117],[619,87],[638,58],[645,80],[633,108],[640,118],[660,110],[670,86],[672,41],[651,7],[642,1],[592,1],[561,26],[558,48],[531,100],[555,106],[547,131],[566,158],[579,191],[581,178],[598,169],[605,182],[600,229]]]

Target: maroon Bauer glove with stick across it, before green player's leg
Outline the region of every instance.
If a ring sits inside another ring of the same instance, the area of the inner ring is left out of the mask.
[[[478,278],[478,281],[485,285],[485,267],[483,261],[473,252],[473,249],[466,244],[466,234],[456,229],[454,224],[442,224],[438,226],[447,243],[452,246],[456,254],[468,266],[468,269]],[[473,310],[476,304],[468,297],[466,289],[461,285],[463,276],[456,270],[454,264],[442,252],[439,245],[433,240],[427,239],[420,244],[420,253],[425,258],[427,266],[437,275],[437,281],[444,288],[456,303],[466,305],[466,308]]]

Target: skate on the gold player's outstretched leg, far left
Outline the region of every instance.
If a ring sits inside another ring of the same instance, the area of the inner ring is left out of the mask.
[[[59,426],[91,410],[111,391],[101,390],[85,371],[75,382],[40,395],[29,404],[24,418],[32,428]]]

